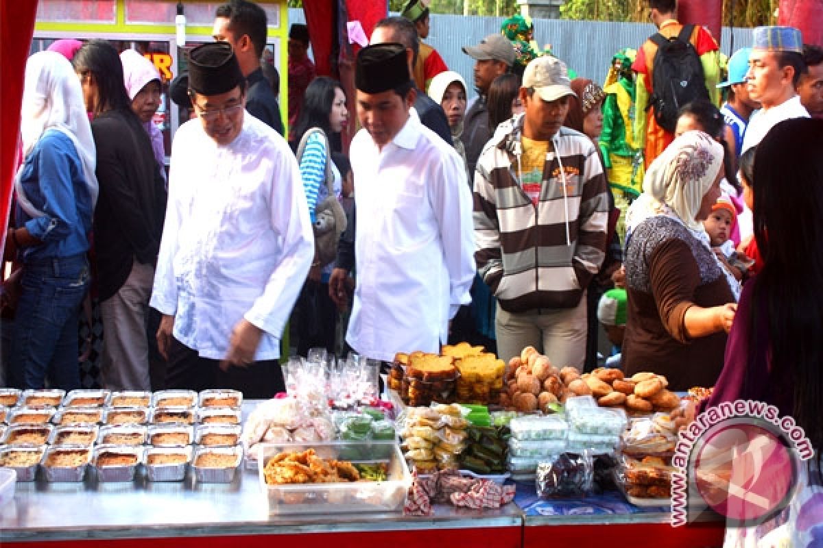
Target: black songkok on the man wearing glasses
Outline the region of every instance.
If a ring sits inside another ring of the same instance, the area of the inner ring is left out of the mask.
[[[188,53],[190,90],[202,95],[218,95],[234,90],[243,81],[243,73],[230,44],[202,44]]]

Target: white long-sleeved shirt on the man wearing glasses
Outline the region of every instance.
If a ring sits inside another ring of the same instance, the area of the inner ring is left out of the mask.
[[[245,318],[263,329],[255,361],[280,357],[280,338],[314,256],[300,170],[286,141],[244,113],[230,145],[200,120],[174,136],[151,306],[174,315],[174,337],[223,359]]]

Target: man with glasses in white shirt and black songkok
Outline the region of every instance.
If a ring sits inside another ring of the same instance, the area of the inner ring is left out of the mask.
[[[300,170],[286,141],[246,115],[229,44],[192,50],[188,87],[199,119],[174,137],[151,295],[166,385],[271,398],[285,389],[280,338],[314,255]]]

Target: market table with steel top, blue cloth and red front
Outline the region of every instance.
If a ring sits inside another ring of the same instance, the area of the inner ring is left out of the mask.
[[[244,420],[257,402],[244,403]],[[241,468],[230,484],[83,483],[16,484],[0,508],[2,546],[296,546],[362,548],[390,543],[449,548],[518,546],[720,546],[723,523],[672,529],[665,508],[639,509],[617,493],[580,500],[539,500],[533,486],[518,484],[514,503],[497,510],[435,505],[425,518],[399,513],[270,516],[255,470]],[[281,545],[283,546],[283,545]]]

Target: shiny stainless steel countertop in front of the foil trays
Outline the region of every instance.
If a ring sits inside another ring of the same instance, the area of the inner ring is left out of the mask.
[[[91,477],[91,480],[89,479]],[[212,536],[296,532],[385,531],[463,527],[520,527],[515,504],[483,512],[439,506],[435,515],[401,513],[269,516],[256,472],[231,484],[98,483],[90,472],[83,484],[18,483],[14,500],[0,509],[2,541]]]

